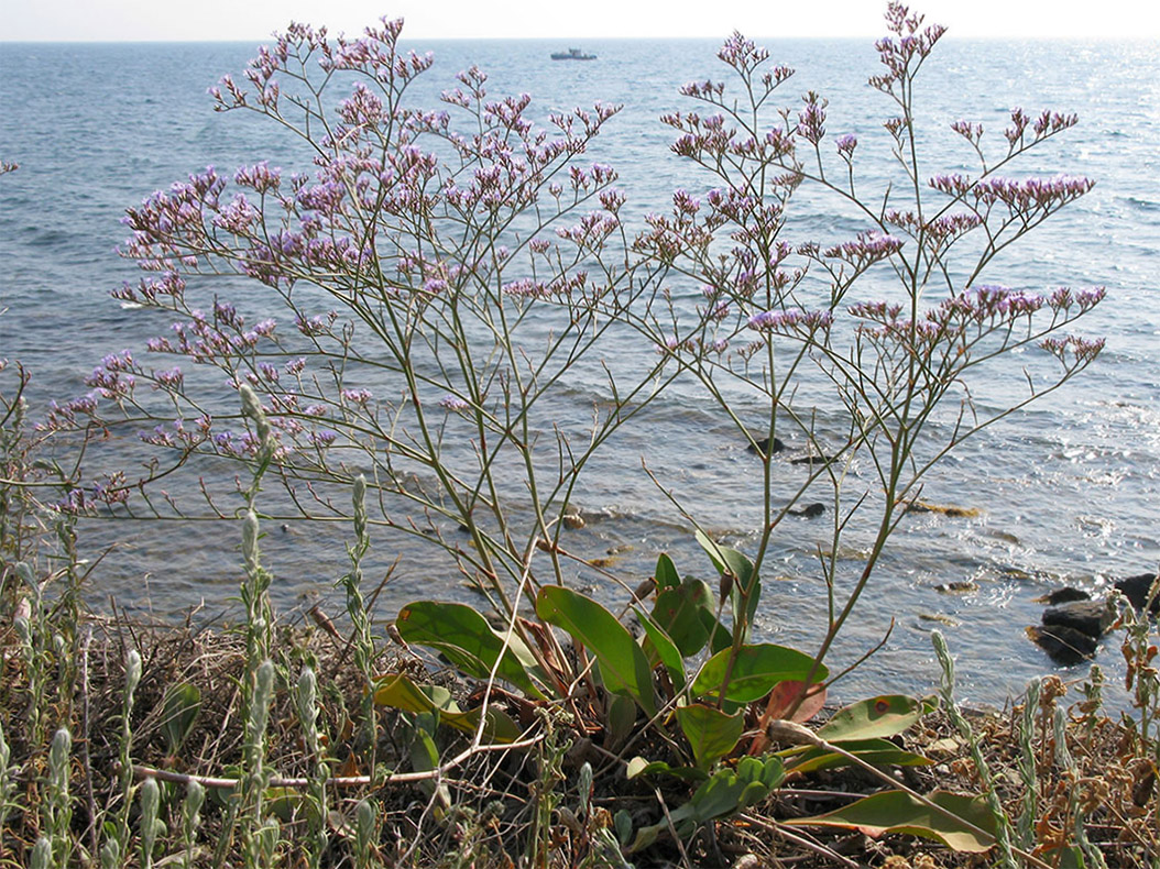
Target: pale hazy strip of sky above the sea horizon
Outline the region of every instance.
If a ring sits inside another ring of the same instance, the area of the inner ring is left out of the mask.
[[[1160,39],[1155,0],[919,0],[962,37]],[[0,0],[0,41],[264,42],[291,20],[361,32],[382,15],[404,37],[863,36],[883,32],[885,0]],[[1160,50],[1160,46],[1158,46]]]

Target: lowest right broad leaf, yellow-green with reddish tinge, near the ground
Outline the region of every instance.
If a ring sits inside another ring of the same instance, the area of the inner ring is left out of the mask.
[[[812,818],[791,818],[782,823],[857,830],[870,837],[907,833],[974,854],[988,850],[995,844],[995,816],[981,797],[936,790],[928,798],[954,817],[920,803],[901,790],[887,790],[858,799],[838,811]],[[978,830],[972,830],[972,825]]]

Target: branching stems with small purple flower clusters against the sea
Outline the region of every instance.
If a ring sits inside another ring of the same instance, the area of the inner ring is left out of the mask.
[[[922,153],[914,95],[943,29],[899,3],[886,23],[870,83],[887,107],[877,136],[893,183],[876,187],[880,166],[864,174],[857,136],[827,129],[822,95],[777,107],[793,71],[734,34],[719,52],[730,80],[687,85],[695,110],[662,118],[676,131],[673,152],[696,171],[639,227],[622,216],[631,191],[615,169],[586,161],[616,107],[539,126],[529,95],[494,97],[471,68],[440,110],[414,108],[408,87],[432,60],[399,49],[401,22],[336,39],[291,25],[244,82],[226,78],[211,93],[219,110],[298,137],[312,166],[208,169],[130,209],[122,253],[146,276],[115,295],[177,321],[150,342],[157,363],[110,356],[92,392],[55,408],[46,425],[100,416],[136,426],[172,457],[153,476],[201,455],[253,461],[259,439],[238,402],[195,392],[191,370],[219,372],[261,399],[274,438],[267,482],[282,481],[288,514],[332,517],[340,507],[328,487],[365,474],[375,534],[442,547],[512,613],[528,585],[566,582],[561,517],[592,457],[675,379],[698,382],[759,455],[755,571],[782,519],[807,492],[828,495],[820,663],[929,469],[1102,348],[1070,334],[1102,289],[1010,289],[988,272],[1092,189],[1086,178],[1015,174],[1025,152],[1076,118],[1015,110],[1001,137],[947,119],[959,149]],[[920,169],[960,165],[964,147],[973,173]],[[861,229],[826,243],[791,238],[788,209],[806,190]],[[210,294],[223,275],[263,287],[249,300],[256,317]],[[606,364],[630,345],[648,348],[633,357],[647,365]],[[1022,349],[1054,367],[1037,368],[1015,401],[976,407],[972,384]],[[796,390],[807,374],[840,408],[842,437],[819,433],[817,402]],[[603,388],[587,422],[560,422],[557,396],[594,378]],[[775,458],[789,437],[812,459],[792,482]],[[658,482],[681,509],[681,492]],[[140,497],[128,499],[131,488]],[[64,506],[197,510],[151,491],[148,480],[114,474]],[[470,547],[448,534],[458,525]],[[870,530],[870,554],[843,585],[836,554],[853,527]]]

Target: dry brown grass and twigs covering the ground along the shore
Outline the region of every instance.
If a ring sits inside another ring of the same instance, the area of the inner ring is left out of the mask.
[[[121,754],[119,716],[124,692],[125,656],[136,648],[143,659],[131,721],[131,754],[136,764],[162,771],[169,779],[234,777],[242,762],[245,742],[241,681],[245,673],[242,631],[222,627],[181,628],[139,626],[89,619],[81,643],[79,678],[72,686],[39,699],[51,720],[50,732],[67,725],[74,735],[71,767],[74,857],[95,853],[100,824],[121,810],[117,759]],[[29,685],[19,653],[16,634],[3,630],[0,715],[19,771],[19,789],[2,831],[0,866],[26,866],[44,833],[38,802],[46,798],[46,745],[29,743],[26,718]],[[350,662],[345,641],[314,627],[285,627],[278,631],[277,657],[282,678],[275,694],[267,740],[267,766],[284,779],[309,779],[312,764],[305,751],[299,718],[289,684],[303,664],[318,673],[320,729],[332,776],[371,776],[376,783],[334,786],[324,826],[328,835],[322,866],[615,866],[607,842],[612,816],[624,810],[633,826],[657,823],[664,811],[688,796],[679,782],[661,789],[625,780],[622,764],[595,742],[574,742],[545,716],[535,738],[521,751],[472,757],[438,782],[392,781],[387,771],[412,769],[412,730],[400,714],[378,710],[377,742],[361,740],[365,729],[357,717],[363,698],[361,676]],[[376,660],[382,672],[418,673],[422,664],[394,647]],[[467,686],[448,676],[445,684],[461,696]],[[182,750],[169,754],[164,733],[164,700],[174,685],[189,682],[201,689],[201,713]],[[66,696],[68,689],[72,696]],[[1037,797],[1031,828],[1036,856],[1053,864],[1061,845],[1074,841],[1072,795],[1079,795],[1087,837],[1109,867],[1155,864],[1160,860],[1160,818],[1157,812],[1155,750],[1138,732],[1104,716],[1099,708],[1074,707],[1067,726],[1067,752],[1058,750],[1052,730],[1054,710],[1067,699],[1058,680],[1047,680],[1034,732],[1028,735],[1035,757]],[[67,717],[61,717],[67,716]],[[1025,787],[1018,774],[1023,710],[970,716],[996,789],[1015,823],[1028,811]],[[438,731],[441,758],[457,746],[445,729]],[[462,740],[462,737],[461,737]],[[907,768],[899,775],[914,789],[944,788],[978,793],[981,780],[967,759],[964,739],[942,714],[927,716],[901,740],[908,750],[934,762]],[[660,747],[657,747],[660,751]],[[1066,757],[1072,762],[1066,762]],[[583,762],[595,771],[590,803],[577,787]],[[372,768],[372,764],[376,766]],[[882,866],[892,869],[989,866],[994,854],[955,854],[934,842],[901,835],[872,840],[857,832],[803,832],[780,825],[835,809],[850,795],[879,789],[864,774],[849,771],[817,773],[788,782],[764,804],[705,828],[693,840],[662,842],[635,855],[637,866],[833,867]],[[299,797],[302,789],[273,794],[268,806],[280,819],[278,855],[284,866],[309,866],[303,842],[317,832],[319,818]],[[171,786],[162,804],[169,838],[159,854],[182,850],[182,788]],[[376,830],[369,850],[357,853],[356,806],[372,799]],[[226,830],[226,790],[210,790],[202,810],[194,855],[196,864],[212,864],[215,848]],[[133,817],[136,815],[133,813]],[[224,866],[240,866],[238,844],[218,853]],[[538,857],[537,857],[538,855]],[[546,861],[546,862],[545,862]],[[84,861],[81,861],[84,862]],[[95,864],[95,863],[94,863]],[[124,864],[139,864],[133,854]]]

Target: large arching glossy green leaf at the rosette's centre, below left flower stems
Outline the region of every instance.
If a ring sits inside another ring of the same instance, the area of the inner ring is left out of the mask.
[[[549,625],[564,628],[593,653],[608,691],[628,694],[650,718],[657,714],[652,667],[644,650],[615,615],[563,585],[539,590],[536,614]]]

